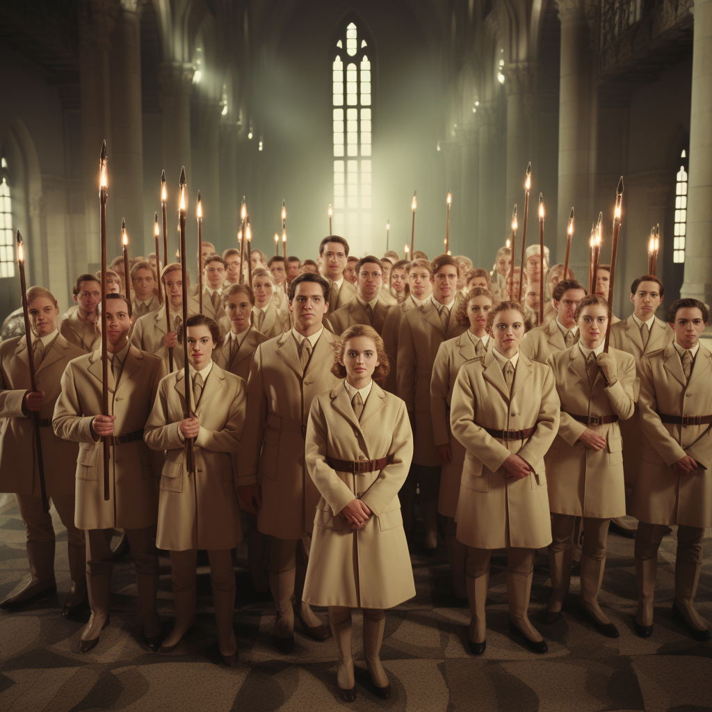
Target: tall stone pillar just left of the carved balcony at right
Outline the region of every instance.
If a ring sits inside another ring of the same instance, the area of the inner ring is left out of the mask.
[[[590,193],[593,187],[590,186],[590,173],[592,155],[595,154],[595,120],[592,119],[589,28],[584,10],[583,0],[559,0],[559,184],[557,244],[556,253],[552,255],[552,259],[557,261],[562,261],[566,251],[566,227],[571,207],[575,208],[577,215],[591,214]],[[582,223],[579,221],[579,234],[581,228]],[[587,273],[587,239],[572,241],[569,263],[575,273]]]

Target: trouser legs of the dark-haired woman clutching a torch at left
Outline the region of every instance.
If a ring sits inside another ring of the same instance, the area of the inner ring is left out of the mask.
[[[176,606],[175,626],[188,629],[195,619],[198,550],[172,551],[171,581]],[[237,642],[233,629],[235,612],[235,570],[230,549],[209,549],[210,583],[213,587],[215,622],[221,655],[234,655]]]

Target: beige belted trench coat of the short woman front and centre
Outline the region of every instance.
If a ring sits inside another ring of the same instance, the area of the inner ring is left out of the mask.
[[[398,491],[413,454],[405,404],[374,382],[360,422],[341,382],[312,402],[306,464],[321,493],[303,600],[318,606],[392,608],[415,595]],[[327,457],[359,461],[392,457],[380,471],[352,474]],[[372,511],[354,532],[342,509],[359,498]]]

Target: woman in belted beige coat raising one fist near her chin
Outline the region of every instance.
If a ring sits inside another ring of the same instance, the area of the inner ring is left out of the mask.
[[[566,281],[560,282],[557,289]],[[570,291],[570,290],[569,290]],[[568,293],[568,292],[567,292]],[[583,518],[580,604],[595,629],[619,636],[598,603],[612,517],[625,513],[622,439],[618,422],[634,411],[635,360],[624,351],[604,351],[610,311],[599,294],[576,306],[577,344],[552,352],[561,402],[559,431],[546,457],[553,541],[549,546],[551,596],[546,621],[555,622],[571,580],[571,535]]]

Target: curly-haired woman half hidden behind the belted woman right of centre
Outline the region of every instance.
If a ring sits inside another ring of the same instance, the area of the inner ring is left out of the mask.
[[[487,314],[493,298],[489,290],[475,287],[466,293],[455,318],[467,331],[441,343],[433,362],[430,379],[430,412],[433,421],[435,449],[442,461],[438,513],[447,517],[445,543],[452,571],[453,592],[457,598],[466,598],[465,560],[467,548],[457,540],[455,514],[460,494],[460,480],[465,461],[465,449],[452,436],[450,429],[450,404],[452,389],[460,368],[467,361],[481,357],[490,340],[487,333]]]

